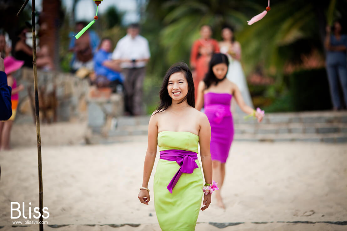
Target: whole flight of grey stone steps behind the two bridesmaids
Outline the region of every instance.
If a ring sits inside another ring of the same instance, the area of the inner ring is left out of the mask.
[[[150,116],[118,117],[103,142],[147,141]],[[234,117],[235,141],[347,143],[347,112],[269,113],[262,123]]]

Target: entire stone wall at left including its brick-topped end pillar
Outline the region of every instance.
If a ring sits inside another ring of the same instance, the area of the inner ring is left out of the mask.
[[[24,85],[24,90],[19,93],[15,123],[34,123],[34,108],[29,96],[31,92],[34,104],[33,70],[23,68],[16,73],[15,78],[18,85]],[[90,86],[87,79],[81,79],[71,73],[37,71],[37,84],[40,108],[42,102],[52,101],[49,95],[55,91],[57,122],[86,122],[88,131],[107,136],[109,131],[115,129],[117,117],[124,113],[122,94],[112,94],[110,88]],[[45,97],[41,97],[41,94]],[[49,122],[53,122],[53,110],[49,109],[46,112]],[[48,122],[43,117],[43,110],[40,110],[40,122]]]

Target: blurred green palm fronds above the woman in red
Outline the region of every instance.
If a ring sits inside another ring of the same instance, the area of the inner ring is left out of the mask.
[[[168,1],[162,4],[169,12],[163,18],[166,26],[160,33],[161,45],[167,50],[167,60],[170,63],[182,58],[189,60],[189,52],[193,41],[199,37],[202,25],[210,25],[215,37],[220,38],[219,32],[223,24],[240,27],[247,20],[242,13],[244,10],[258,9],[252,1]]]

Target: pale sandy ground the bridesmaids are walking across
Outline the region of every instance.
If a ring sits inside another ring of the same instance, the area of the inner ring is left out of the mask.
[[[137,198],[146,147],[43,146],[45,230],[160,230],[153,193],[148,206]],[[235,142],[222,188],[226,210],[212,197],[196,230],[347,230],[346,150],[346,144]],[[10,218],[10,202],[25,202],[26,216],[29,202],[32,211],[39,206],[36,147],[0,152],[0,163],[0,230],[38,230],[12,227],[36,219]]]

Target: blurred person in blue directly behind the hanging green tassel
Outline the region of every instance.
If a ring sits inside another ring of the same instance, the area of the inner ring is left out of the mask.
[[[86,25],[83,21],[77,22],[75,34],[80,32]],[[81,67],[93,70],[93,55],[99,46],[100,38],[93,30],[86,30],[78,39],[73,37],[75,34],[70,33],[72,38],[69,44],[69,51],[74,52],[70,63],[71,70],[75,72]]]

